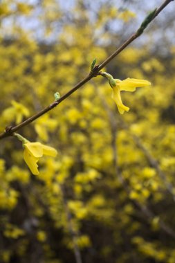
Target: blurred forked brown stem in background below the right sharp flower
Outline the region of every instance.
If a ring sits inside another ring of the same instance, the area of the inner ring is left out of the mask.
[[[111,125],[111,134],[112,134],[111,147],[113,149],[113,166],[115,169],[114,174],[116,174],[118,181],[120,181],[122,187],[125,189],[129,197],[129,194],[132,189],[131,189],[131,186],[126,182],[125,178],[123,177],[122,171],[120,170],[120,167],[118,165],[118,147],[116,144],[116,138],[118,136],[118,125],[122,125],[122,127],[127,129],[128,131],[129,131],[129,127],[126,125],[124,120],[122,120],[121,118],[118,118],[118,120],[116,119],[116,116],[113,114],[113,111],[111,111],[111,109],[107,105],[105,98],[102,96],[100,89],[98,89],[98,87],[95,87],[95,91],[98,93],[98,96],[100,96],[101,98],[102,104],[104,105],[104,108],[106,109],[107,115],[109,117],[109,123]],[[131,136],[133,136],[133,134],[131,134]],[[133,136],[133,140],[135,140],[136,145],[145,154],[145,157],[149,161],[149,164],[155,168],[160,178],[163,179],[163,181],[165,181],[167,190],[172,194],[173,199],[174,199],[174,192],[172,192],[173,186],[171,185],[171,183],[167,181],[166,176],[163,173],[163,171],[160,170],[158,162],[154,159],[154,157],[151,156],[151,154],[148,152],[145,146],[142,145],[141,140],[138,136]],[[171,188],[169,188],[170,187],[169,185],[171,186]],[[149,224],[151,223],[151,220],[154,219],[154,217],[156,217],[154,212],[152,212],[146,204],[142,204],[138,200],[133,200],[133,199],[130,199],[130,201],[133,203],[133,206],[135,206],[138,210],[142,212],[142,214],[146,217],[147,221],[149,221]],[[170,226],[165,224],[165,222],[162,219],[159,219],[158,223],[159,223],[160,229],[162,229],[167,235],[175,239],[175,232]]]

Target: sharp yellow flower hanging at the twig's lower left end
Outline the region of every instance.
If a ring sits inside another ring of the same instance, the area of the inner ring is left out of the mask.
[[[30,143],[27,141],[24,143],[24,161],[28,165],[30,171],[35,175],[39,174],[37,162],[43,155],[55,157],[57,155],[57,150],[38,142]]]

